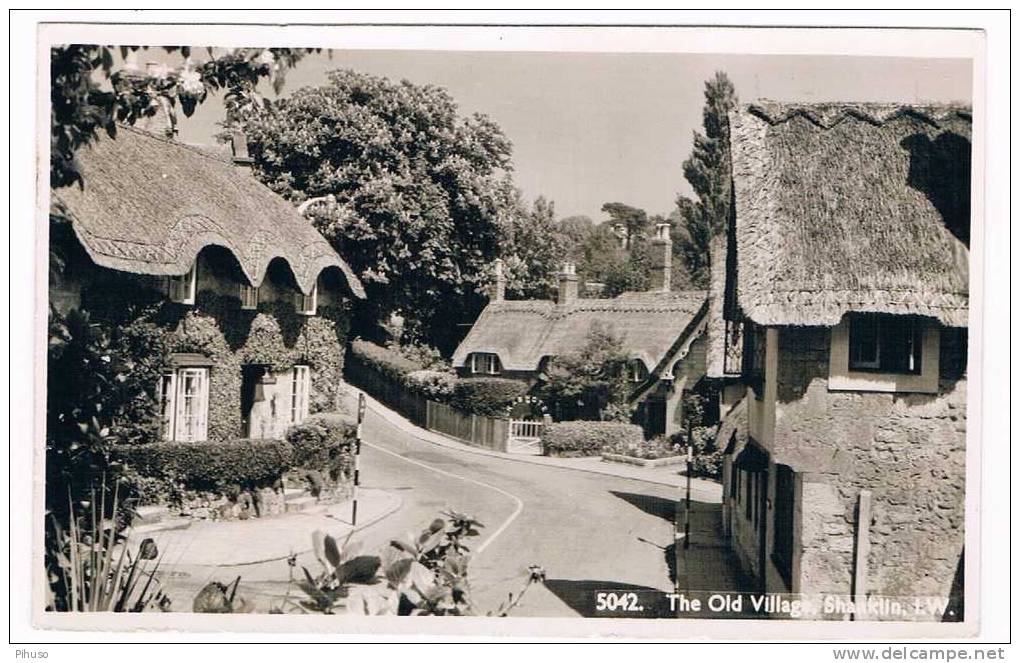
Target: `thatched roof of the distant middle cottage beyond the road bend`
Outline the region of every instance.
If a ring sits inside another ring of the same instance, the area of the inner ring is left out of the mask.
[[[495,353],[506,370],[537,370],[544,357],[579,350],[595,323],[612,329],[632,359],[649,371],[692,334],[707,308],[704,291],[624,293],[613,299],[577,299],[562,306],[545,300],[495,301],[481,311],[453,355]]]

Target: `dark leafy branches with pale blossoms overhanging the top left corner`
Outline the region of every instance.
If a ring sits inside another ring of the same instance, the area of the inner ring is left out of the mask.
[[[240,108],[261,103],[255,88],[271,78],[278,93],[286,69],[293,67],[309,51],[318,49],[241,48],[208,59],[191,60],[187,46],[166,46],[180,53],[185,64],[162,67],[155,74],[130,67],[113,70],[113,57],[121,59],[146,47],[57,46],[50,52],[50,186],[84,186],[74,163],[74,153],[95,141],[101,131],[116,138],[117,122],[134,124],[160,109],[172,116],[176,105],[190,116],[209,92],[226,91],[227,107]]]

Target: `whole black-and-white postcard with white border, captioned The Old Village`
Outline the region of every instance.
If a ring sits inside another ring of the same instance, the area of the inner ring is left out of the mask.
[[[39,624],[974,632],[981,31],[143,23],[38,33]]]

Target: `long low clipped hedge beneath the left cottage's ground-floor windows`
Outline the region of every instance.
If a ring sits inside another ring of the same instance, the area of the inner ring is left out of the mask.
[[[114,456],[142,476],[178,477],[200,491],[272,486],[294,467],[294,447],[284,440],[154,442],[120,446]]]

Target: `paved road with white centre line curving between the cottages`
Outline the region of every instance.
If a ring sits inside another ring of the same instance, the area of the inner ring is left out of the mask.
[[[528,564],[543,566],[549,579],[528,590],[515,616],[596,616],[596,592],[672,590],[667,547],[674,489],[441,447],[371,409],[363,430],[362,483],[404,499],[398,513],[362,534],[366,547],[420,528],[445,508],[473,515],[487,525],[471,563],[479,608],[495,608],[517,592]],[[695,541],[723,563],[720,574],[726,576],[728,555],[718,546],[714,520],[718,506],[696,506]],[[731,585],[733,578],[719,582]]]

